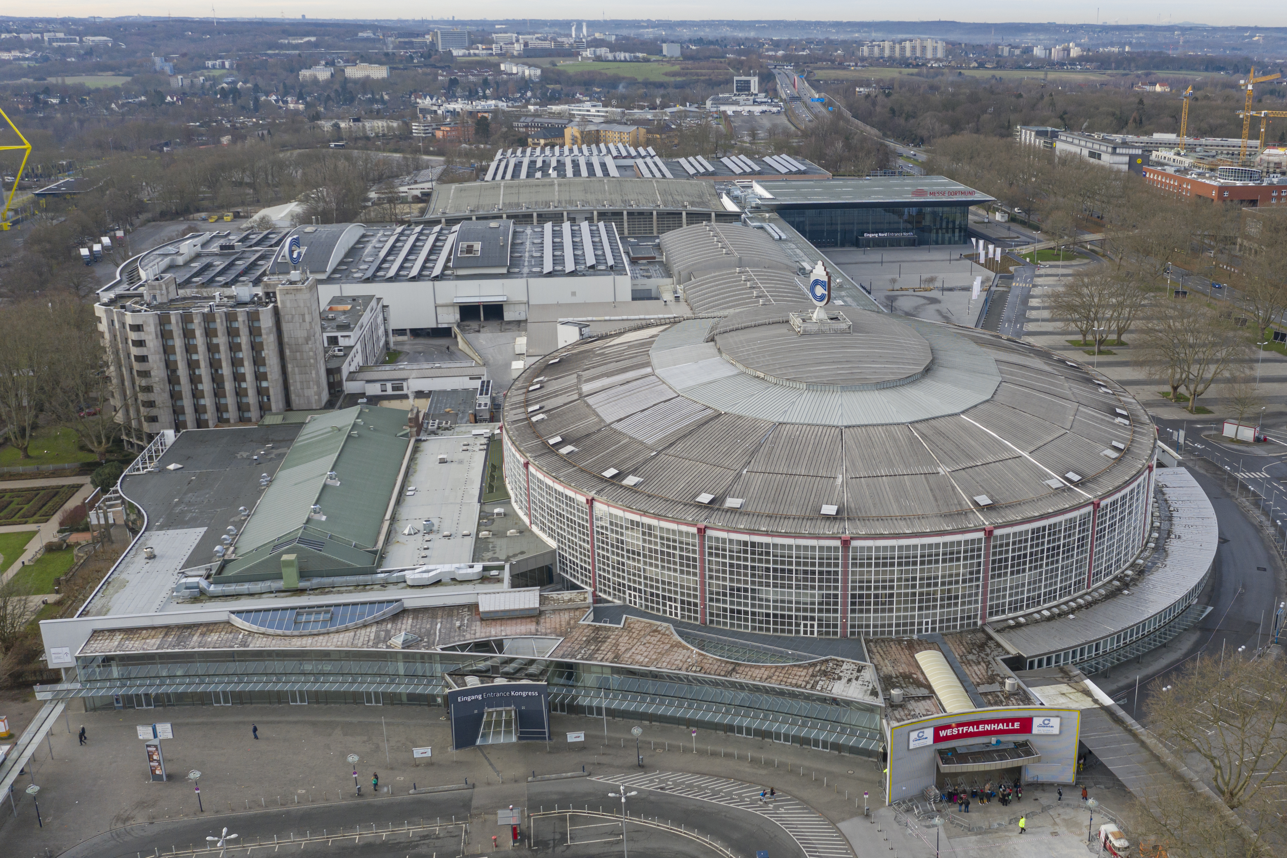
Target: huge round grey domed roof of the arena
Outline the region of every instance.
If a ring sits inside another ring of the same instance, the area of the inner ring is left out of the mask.
[[[515,382],[506,432],[534,467],[609,504],[798,535],[1058,515],[1152,458],[1139,403],[1046,350],[811,310],[755,306],[569,346]]]

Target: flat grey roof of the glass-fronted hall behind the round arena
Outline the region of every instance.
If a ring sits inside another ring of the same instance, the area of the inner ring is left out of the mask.
[[[837,206],[978,205],[996,202],[947,176],[875,176],[870,179],[755,180],[755,194],[766,208],[819,208]]]

